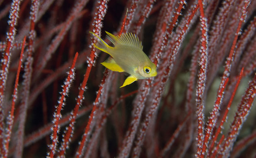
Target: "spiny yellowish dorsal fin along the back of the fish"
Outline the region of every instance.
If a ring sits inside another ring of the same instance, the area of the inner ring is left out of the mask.
[[[138,49],[143,49],[143,46],[141,44],[141,41],[139,41],[139,38],[132,33],[125,33],[121,34],[120,36],[115,36],[109,32],[106,32],[107,38],[115,45],[123,45],[123,46],[130,46],[135,47]]]

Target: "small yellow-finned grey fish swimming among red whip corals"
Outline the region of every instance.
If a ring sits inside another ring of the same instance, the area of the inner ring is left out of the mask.
[[[141,41],[135,34],[123,33],[115,36],[106,32],[107,38],[114,45],[114,47],[111,47],[98,35],[93,32],[89,33],[96,40],[96,43],[93,44],[94,47],[110,55],[101,64],[112,71],[130,74],[121,87],[138,79],[146,79],[157,75],[156,65],[143,52]]]

